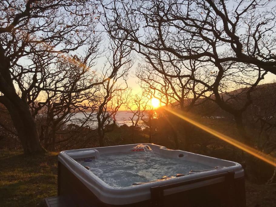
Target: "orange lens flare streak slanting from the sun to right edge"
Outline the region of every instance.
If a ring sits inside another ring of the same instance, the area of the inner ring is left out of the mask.
[[[241,142],[239,142],[239,141],[237,141],[235,139],[232,139],[231,137],[229,137],[227,135],[224,135],[224,134],[222,134],[220,132],[215,131],[214,129],[211,129],[211,128],[205,126],[205,125],[202,125],[202,124],[200,124],[200,123],[198,123],[198,122],[196,122],[196,121],[188,118],[187,116],[181,114],[181,112],[179,113],[179,112],[177,112],[177,111],[175,111],[173,109],[168,109],[168,108],[165,108],[165,107],[164,107],[164,109],[167,112],[170,112],[171,114],[173,114],[175,116],[178,116],[179,118],[181,118],[181,119],[183,119],[183,120],[185,120],[185,121],[187,121],[187,122],[189,122],[189,123],[197,126],[198,128],[204,130],[205,132],[208,132],[211,135],[214,135],[214,136],[218,137],[219,139],[221,139],[221,140],[223,140],[223,141],[225,141],[225,142],[227,142],[227,143],[229,143],[229,144],[231,144],[231,145],[233,145],[233,146],[235,146],[235,147],[243,150],[244,152],[247,152],[248,154],[251,154],[251,155],[257,157],[258,159],[261,159],[264,162],[267,162],[270,165],[273,165],[274,167],[276,167],[276,159],[274,157],[272,157],[271,155],[267,155],[267,154],[265,154],[265,153],[263,153],[261,151],[258,151],[258,150],[254,149],[254,148],[252,148],[252,147],[250,147],[248,145],[245,145],[244,143],[241,143]]]

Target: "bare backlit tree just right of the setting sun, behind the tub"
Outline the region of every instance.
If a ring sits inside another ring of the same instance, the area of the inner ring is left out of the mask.
[[[201,67],[195,61],[190,61],[186,65],[183,61],[175,61],[165,55],[161,56],[160,52],[151,52],[145,54],[148,64],[138,67],[137,77],[141,81],[142,88],[154,91],[154,95],[161,97],[161,102],[171,108],[178,108],[188,113],[194,106],[203,102],[199,101],[204,94],[210,92],[210,88],[198,83],[202,74],[198,67]],[[183,73],[185,75],[183,75]],[[182,129],[182,142],[184,142],[185,150],[189,150],[190,142],[188,135],[188,123],[183,120],[171,122],[169,114],[163,113],[165,122],[170,126],[170,131],[175,140],[175,148],[179,149],[178,129]]]

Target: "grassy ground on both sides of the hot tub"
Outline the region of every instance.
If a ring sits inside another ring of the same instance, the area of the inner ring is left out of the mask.
[[[57,155],[25,157],[22,151],[0,150],[0,206],[37,206],[57,195]],[[276,185],[246,181],[247,206],[276,207]]]

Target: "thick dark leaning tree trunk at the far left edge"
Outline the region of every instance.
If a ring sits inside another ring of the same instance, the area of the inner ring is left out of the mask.
[[[8,109],[13,124],[20,139],[24,153],[34,154],[45,152],[41,146],[36,123],[25,99],[16,93],[10,74],[10,60],[5,57],[5,50],[0,45],[0,102]]]

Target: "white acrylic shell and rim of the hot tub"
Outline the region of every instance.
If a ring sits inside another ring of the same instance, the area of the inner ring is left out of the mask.
[[[83,154],[97,155],[101,159],[101,154],[115,153],[115,152],[130,152],[133,147],[138,144],[133,145],[119,145],[119,146],[109,146],[109,147],[97,147],[89,149],[75,149],[62,151],[58,155],[58,161],[61,162],[65,167],[71,171],[91,192],[93,192],[100,201],[113,204],[113,205],[126,205],[135,202],[141,202],[151,198],[150,188],[160,185],[168,185],[176,182],[187,181],[191,179],[196,179],[200,177],[205,177],[208,175],[215,175],[218,173],[234,171],[234,178],[241,178],[244,176],[244,170],[242,166],[237,162],[232,162],[228,160],[222,160],[218,158],[208,157],[205,155],[199,155],[191,152],[185,152],[181,150],[171,150],[166,147],[155,145],[155,144],[144,144],[149,145],[151,149],[158,152],[164,156],[171,157],[174,159],[183,159],[192,162],[198,162],[201,164],[209,166],[220,166],[220,168],[208,170],[204,172],[194,172],[190,175],[185,175],[177,178],[171,178],[162,181],[149,182],[142,185],[134,185],[125,188],[112,187],[94,175],[90,170],[87,170],[84,166],[76,162],[74,159],[81,158]],[[133,152],[139,153],[139,152]],[[82,155],[81,155],[82,154]],[[183,154],[183,157],[178,157],[179,154]],[[81,156],[79,156],[81,155]],[[74,158],[74,159],[73,159]],[[98,157],[97,157],[98,158]],[[171,188],[164,190],[164,195],[170,195],[173,193],[198,188],[205,185],[215,184],[218,182],[223,182],[224,177],[206,180],[202,182],[197,182],[189,185],[180,186],[177,188]],[[70,182],[70,181],[68,181]]]

